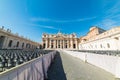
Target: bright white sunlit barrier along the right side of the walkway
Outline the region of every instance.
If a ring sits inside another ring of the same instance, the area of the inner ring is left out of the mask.
[[[67,50],[64,50],[64,52],[74,57],[77,57],[83,60],[84,62],[100,67],[112,73],[116,78],[120,78],[119,56],[108,56],[108,55],[93,54],[88,52],[76,52],[76,51],[67,51]]]

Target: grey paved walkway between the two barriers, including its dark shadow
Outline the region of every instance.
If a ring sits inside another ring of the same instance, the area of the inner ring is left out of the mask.
[[[48,70],[48,80],[115,80],[115,78],[103,69],[61,51]]]

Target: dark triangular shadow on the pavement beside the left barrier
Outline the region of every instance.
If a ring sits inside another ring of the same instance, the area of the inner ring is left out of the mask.
[[[48,80],[67,80],[59,52],[48,70]]]

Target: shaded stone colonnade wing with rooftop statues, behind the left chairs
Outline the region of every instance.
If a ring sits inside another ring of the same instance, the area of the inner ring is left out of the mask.
[[[40,44],[11,33],[11,30],[0,28],[0,49],[38,48]]]

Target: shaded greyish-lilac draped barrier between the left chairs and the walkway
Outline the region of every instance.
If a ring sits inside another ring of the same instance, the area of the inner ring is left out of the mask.
[[[44,80],[56,51],[0,73],[0,80]]]

